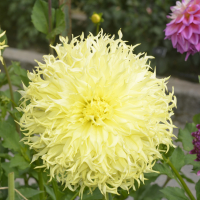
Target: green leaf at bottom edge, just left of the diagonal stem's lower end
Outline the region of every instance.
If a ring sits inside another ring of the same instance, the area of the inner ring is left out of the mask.
[[[168,200],[188,200],[185,191],[178,187],[166,187],[160,190]]]

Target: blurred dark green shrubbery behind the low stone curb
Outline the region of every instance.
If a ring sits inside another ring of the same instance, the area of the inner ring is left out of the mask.
[[[31,21],[34,3],[35,0],[0,1],[0,25],[7,31],[10,47],[48,54],[48,40]],[[156,66],[158,75],[198,82],[200,55],[190,56],[185,62],[185,55],[177,53],[171,41],[164,40],[163,30],[170,21],[166,16],[175,3],[176,0],[71,0],[72,33],[74,36],[82,32],[95,34],[90,17],[93,12],[103,13],[104,32],[116,34],[121,28],[123,39],[129,44],[140,43],[135,52],[153,55],[156,59],[151,61],[151,66]],[[59,7],[58,0],[52,4],[54,8]],[[57,39],[55,43],[58,42]]]

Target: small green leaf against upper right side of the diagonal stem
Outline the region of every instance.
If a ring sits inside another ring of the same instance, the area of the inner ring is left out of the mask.
[[[182,151],[180,147],[177,147],[170,157],[170,161],[172,162],[174,167],[177,169],[177,171],[180,171],[181,168],[185,165],[184,158],[185,158],[184,152]]]

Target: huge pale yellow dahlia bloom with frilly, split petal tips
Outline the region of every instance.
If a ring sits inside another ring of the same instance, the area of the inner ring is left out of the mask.
[[[82,34],[70,44],[60,37],[58,56],[44,56],[21,91],[33,161],[41,157],[51,177],[80,186],[80,194],[86,186],[104,195],[135,188],[161,158],[159,144],[172,145],[176,98],[165,93],[168,78],[156,78],[150,57],[133,54],[118,34]]]

